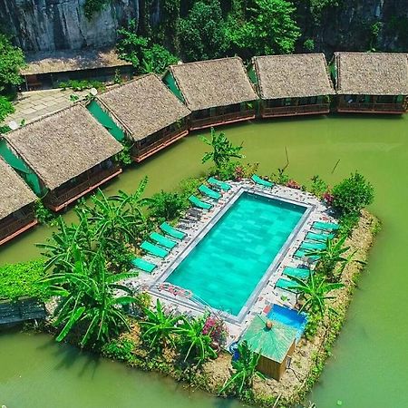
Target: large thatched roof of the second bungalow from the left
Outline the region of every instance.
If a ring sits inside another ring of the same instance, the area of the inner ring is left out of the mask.
[[[5,139],[48,189],[61,186],[122,149],[80,104],[8,132]]]

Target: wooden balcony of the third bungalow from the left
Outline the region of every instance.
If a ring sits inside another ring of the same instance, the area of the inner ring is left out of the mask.
[[[147,159],[151,155],[165,149],[175,141],[179,141],[181,138],[189,133],[188,124],[184,122],[181,126],[172,125],[161,131],[148,136],[141,141],[137,141],[133,147],[131,158],[137,163]]]

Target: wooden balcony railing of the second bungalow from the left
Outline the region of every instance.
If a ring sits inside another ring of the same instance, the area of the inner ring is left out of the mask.
[[[81,194],[101,184],[102,180],[109,179],[110,176],[120,170],[118,166],[112,166],[111,169],[97,169],[92,174],[83,175],[85,180],[79,181],[78,184],[73,184],[72,188],[56,189],[50,191],[44,199],[46,205],[58,211],[64,204],[72,202],[72,199],[79,198]]]

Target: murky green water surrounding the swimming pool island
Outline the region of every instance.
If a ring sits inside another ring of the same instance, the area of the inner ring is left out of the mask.
[[[309,399],[318,408],[408,407],[408,115],[404,118],[333,116],[264,121],[225,129],[244,141],[248,161],[271,173],[287,172],[306,183],[319,174],[331,184],[359,170],[375,188],[371,210],[383,221],[368,266],[348,312],[334,354]],[[126,170],[105,190],[131,190],[147,174],[147,193],[173,189],[199,175],[206,146],[191,135],[151,160]],[[336,162],[338,162],[335,168]],[[335,171],[332,170],[335,168]],[[66,215],[67,219],[72,214]],[[35,257],[35,242],[50,234],[36,228],[0,249],[0,262]],[[15,407],[180,407],[236,408],[235,401],[189,392],[159,375],[56,345],[47,335],[0,335],[0,404]]]

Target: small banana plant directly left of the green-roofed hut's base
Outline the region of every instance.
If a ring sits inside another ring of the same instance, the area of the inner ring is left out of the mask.
[[[254,377],[265,379],[265,375],[257,371],[257,363],[260,355],[254,353],[246,341],[238,344],[238,360],[232,362],[232,368],[235,373],[232,374],[219,393],[231,390],[238,395],[252,388]]]

